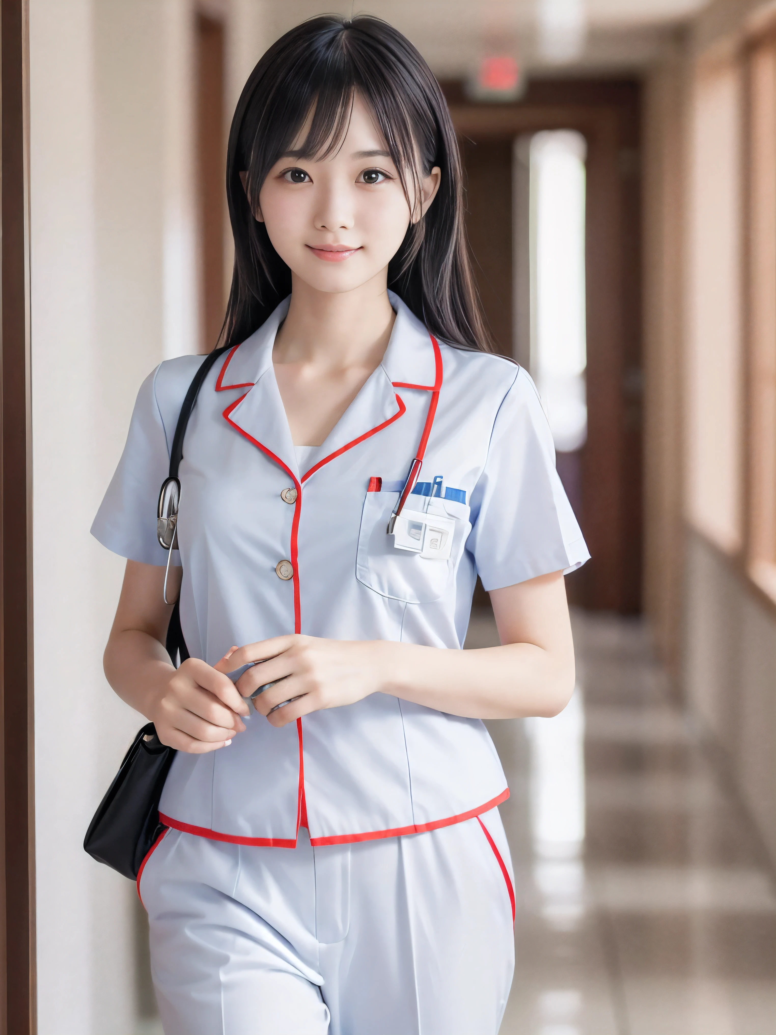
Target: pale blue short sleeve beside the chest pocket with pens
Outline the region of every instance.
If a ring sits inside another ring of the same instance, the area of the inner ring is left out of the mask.
[[[547,418],[521,367],[496,416],[471,503],[467,548],[486,590],[568,574],[590,558],[556,471]]]

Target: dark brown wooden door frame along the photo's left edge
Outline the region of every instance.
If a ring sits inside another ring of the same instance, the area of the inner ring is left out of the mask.
[[[28,30],[27,0],[0,0],[0,1035],[36,1030]]]

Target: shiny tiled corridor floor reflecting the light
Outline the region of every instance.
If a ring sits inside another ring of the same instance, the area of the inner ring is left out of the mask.
[[[517,964],[502,1035],[776,1035],[776,893],[639,623],[574,616],[556,719],[489,723],[511,787]],[[473,619],[467,646],[498,642]]]

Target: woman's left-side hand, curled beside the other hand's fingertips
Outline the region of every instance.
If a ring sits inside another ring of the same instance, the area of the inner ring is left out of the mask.
[[[189,755],[231,744],[245,730],[241,716],[249,714],[232,680],[196,657],[174,672],[150,711],[161,743]]]

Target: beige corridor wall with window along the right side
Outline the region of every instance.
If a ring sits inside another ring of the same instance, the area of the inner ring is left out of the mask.
[[[645,516],[658,651],[776,860],[776,601],[746,573],[744,534],[743,371],[757,318],[743,302],[742,68],[768,10],[712,4],[647,81]],[[775,292],[769,283],[769,305]]]

